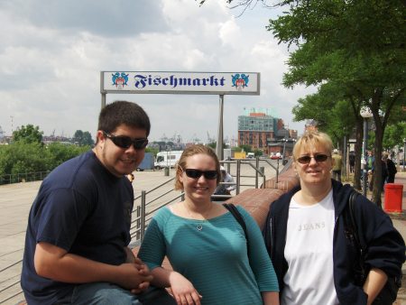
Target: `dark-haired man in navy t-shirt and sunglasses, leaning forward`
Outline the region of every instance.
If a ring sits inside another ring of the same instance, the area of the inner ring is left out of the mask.
[[[109,104],[98,118],[95,147],[42,181],[23,254],[21,285],[28,304],[148,300],[148,292],[141,292],[152,290],[152,275],[128,247],[134,190],[125,176],[143,161],[150,129],[142,107]],[[173,300],[165,291],[153,293]]]

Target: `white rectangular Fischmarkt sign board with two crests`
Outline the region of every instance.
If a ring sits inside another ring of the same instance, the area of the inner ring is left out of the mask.
[[[101,93],[259,95],[257,72],[102,71]]]

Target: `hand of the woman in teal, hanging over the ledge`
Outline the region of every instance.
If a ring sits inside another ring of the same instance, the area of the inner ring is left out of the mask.
[[[202,296],[180,273],[171,273],[169,281],[171,283],[171,291],[178,305],[200,305]]]

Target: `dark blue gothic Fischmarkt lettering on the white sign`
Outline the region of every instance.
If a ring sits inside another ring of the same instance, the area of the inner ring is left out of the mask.
[[[136,74],[134,76],[134,86],[135,88],[145,88],[147,86],[169,86],[171,88],[177,87],[223,87],[225,86],[225,78],[218,79],[216,76],[210,76],[208,78],[177,78],[174,75],[171,75],[167,78],[162,78],[161,76],[152,75],[141,75]]]

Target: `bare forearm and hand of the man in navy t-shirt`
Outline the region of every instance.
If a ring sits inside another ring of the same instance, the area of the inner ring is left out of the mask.
[[[36,273],[58,282],[112,282],[131,290],[152,281],[148,268],[140,262],[100,263],[43,242],[35,247],[34,266]]]

